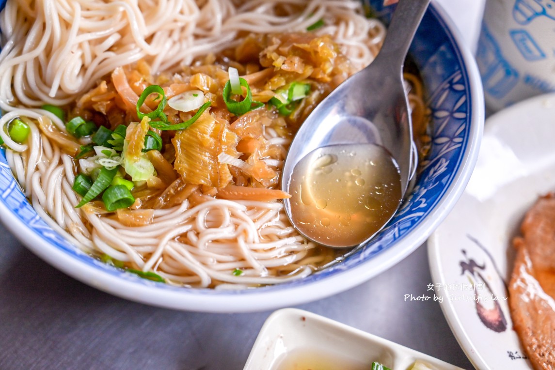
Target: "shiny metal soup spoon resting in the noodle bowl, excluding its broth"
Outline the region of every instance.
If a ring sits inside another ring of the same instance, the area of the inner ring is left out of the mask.
[[[401,194],[405,194],[415,173],[417,156],[413,149],[403,64],[428,3],[430,0],[400,0],[376,59],[339,85],[307,117],[285,160],[281,180],[283,190],[290,191],[291,178],[300,167],[296,165],[307,155],[314,155],[315,150],[319,150],[316,154],[321,156],[348,149],[349,145],[377,144],[396,161],[401,175]],[[291,223],[299,229],[295,221],[302,215],[292,214],[290,200],[285,200],[285,211]],[[348,241],[345,245],[321,239],[315,241],[332,247],[354,246]]]

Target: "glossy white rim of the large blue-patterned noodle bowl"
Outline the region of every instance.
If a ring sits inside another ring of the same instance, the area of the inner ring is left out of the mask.
[[[337,271],[331,276],[324,276],[315,281],[274,290],[254,288],[241,291],[209,290],[207,292],[208,290],[183,287],[174,290],[160,289],[157,287],[158,283],[147,285],[133,279],[123,279],[67,254],[35,232],[28,232],[27,225],[18,217],[14,217],[12,211],[3,202],[0,202],[0,221],[29,250],[67,275],[115,296],[175,310],[220,313],[265,311],[315,301],[360,285],[395,265],[423,244],[455,206],[476,164],[485,115],[480,74],[470,49],[463,42],[453,21],[435,0],[432,0],[430,7],[438,22],[446,30],[453,48],[457,50],[466,67],[469,94],[473,97],[468,117],[468,121],[471,122],[471,130],[468,133],[467,150],[460,159],[457,173],[451,180],[451,184],[443,191],[444,195],[437,201],[435,207],[413,230],[397,241],[394,248],[388,248],[372,256],[369,260],[372,261],[372,268],[368,268],[367,263],[364,262],[349,270]],[[446,193],[449,195],[445,196]],[[83,254],[85,255],[84,252]],[[241,294],[237,294],[237,292],[241,292]]]

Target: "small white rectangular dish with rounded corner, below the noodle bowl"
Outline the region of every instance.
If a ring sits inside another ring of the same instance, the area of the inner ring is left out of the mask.
[[[432,370],[462,370],[427,354],[296,308],[284,308],[268,317],[244,370],[304,370],[309,365],[317,369],[369,370],[374,361],[392,370],[406,370],[415,361],[427,364]]]

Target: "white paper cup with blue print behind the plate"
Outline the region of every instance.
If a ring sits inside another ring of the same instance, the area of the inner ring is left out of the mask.
[[[476,59],[492,111],[555,91],[555,0],[487,0]]]

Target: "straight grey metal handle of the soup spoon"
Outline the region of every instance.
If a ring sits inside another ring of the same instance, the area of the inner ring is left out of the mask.
[[[376,59],[387,64],[403,66],[412,38],[422,20],[430,0],[399,0],[389,27],[387,37]]]

